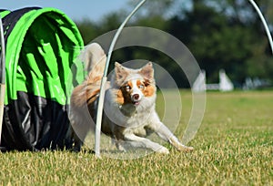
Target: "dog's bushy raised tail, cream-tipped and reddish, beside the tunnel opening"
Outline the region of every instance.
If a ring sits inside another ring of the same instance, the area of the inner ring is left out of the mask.
[[[79,58],[85,63],[88,76],[82,84],[73,90],[71,105],[77,108],[95,101],[106,67],[105,51],[97,43],[88,45]]]

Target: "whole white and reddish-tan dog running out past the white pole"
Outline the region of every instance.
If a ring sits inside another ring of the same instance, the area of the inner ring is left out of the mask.
[[[91,54],[93,57],[93,59],[86,57],[86,59],[91,59],[88,62],[91,64],[91,71],[85,82],[74,89],[71,97],[72,124],[76,125],[77,129],[80,128],[80,125],[85,125],[86,117],[83,115],[86,113],[82,110],[85,107],[92,119],[96,120],[96,100],[106,64],[106,55],[97,44],[87,47],[86,50],[88,50],[86,54],[89,56]],[[126,150],[126,147],[122,145],[124,144],[122,142],[126,141],[126,144],[132,147],[169,153],[167,148],[145,138],[151,132],[156,132],[159,137],[167,140],[177,150],[193,150],[192,147],[181,144],[160,121],[156,112],[156,98],[157,88],[151,62],[139,69],[123,67],[116,62],[115,72],[106,88],[102,132],[115,141],[118,150]],[[81,139],[85,137],[86,130],[85,127],[79,132]],[[80,146],[81,141],[76,138],[76,149],[79,150]]]

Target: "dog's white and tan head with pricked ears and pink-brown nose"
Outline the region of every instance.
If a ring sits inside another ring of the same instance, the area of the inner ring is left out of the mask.
[[[155,98],[156,85],[151,62],[139,69],[124,67],[116,62],[112,87],[117,89],[119,105],[141,105],[147,98]]]

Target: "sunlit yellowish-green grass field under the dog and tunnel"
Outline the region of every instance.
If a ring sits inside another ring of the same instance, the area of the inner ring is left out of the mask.
[[[182,90],[182,139],[190,94]],[[160,112],[160,110],[159,110]],[[135,160],[89,152],[0,153],[0,185],[273,185],[273,91],[207,93],[195,150]]]

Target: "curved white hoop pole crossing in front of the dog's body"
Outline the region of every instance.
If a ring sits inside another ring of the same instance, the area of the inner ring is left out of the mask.
[[[101,132],[101,122],[102,122],[102,113],[103,113],[103,107],[104,107],[104,100],[105,100],[105,93],[106,93],[106,80],[107,80],[107,72],[108,67],[110,63],[110,58],[112,56],[113,49],[116,45],[116,40],[118,36],[120,35],[122,29],[128,22],[128,20],[131,18],[132,15],[136,13],[136,11],[140,8],[141,5],[143,5],[146,2],[146,0],[142,0],[138,5],[136,5],[136,8],[131,12],[130,15],[126,17],[124,22],[119,26],[119,28],[116,31],[116,35],[114,36],[112,43],[109,47],[108,55],[106,58],[106,67],[104,71],[104,76],[101,81],[100,85],[100,92],[99,92],[99,98],[98,98],[98,106],[97,106],[97,113],[96,113],[96,134],[95,134],[95,154],[96,157],[100,157],[100,132]]]

